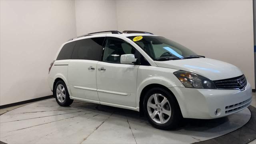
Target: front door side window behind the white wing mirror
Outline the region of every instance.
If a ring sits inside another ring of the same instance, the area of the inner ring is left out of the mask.
[[[108,38],[104,48],[104,62],[120,63],[122,54],[134,54],[136,50],[130,44],[119,38]],[[136,55],[135,55],[136,58]]]

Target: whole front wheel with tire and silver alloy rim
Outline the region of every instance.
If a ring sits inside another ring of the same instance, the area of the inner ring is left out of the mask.
[[[144,112],[155,128],[176,128],[182,118],[174,96],[163,88],[152,88],[144,97]]]

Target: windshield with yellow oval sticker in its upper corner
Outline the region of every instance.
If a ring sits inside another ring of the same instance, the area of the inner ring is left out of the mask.
[[[128,38],[140,46],[153,60],[176,60],[197,55],[188,48],[160,36],[130,36]]]

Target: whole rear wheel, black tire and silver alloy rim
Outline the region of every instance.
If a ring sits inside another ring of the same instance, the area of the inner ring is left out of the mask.
[[[66,84],[61,80],[56,82],[53,94],[56,99],[56,102],[60,106],[69,106],[73,102],[73,100],[71,100],[69,98],[68,89],[66,87]]]

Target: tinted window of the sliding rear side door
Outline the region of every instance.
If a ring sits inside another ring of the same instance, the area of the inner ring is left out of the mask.
[[[104,38],[105,37],[86,38],[76,41],[72,59],[101,60]]]

